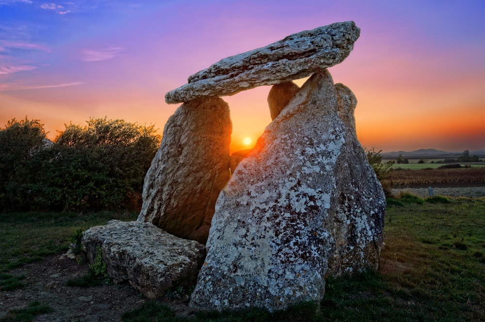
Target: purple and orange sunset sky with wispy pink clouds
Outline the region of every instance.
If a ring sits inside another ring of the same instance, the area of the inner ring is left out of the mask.
[[[38,119],[49,138],[90,117],[154,123],[166,92],[230,55],[354,20],[329,68],[356,94],[357,135],[376,150],[485,149],[482,0],[0,0],[0,127]],[[223,97],[232,150],[271,122],[264,86]]]

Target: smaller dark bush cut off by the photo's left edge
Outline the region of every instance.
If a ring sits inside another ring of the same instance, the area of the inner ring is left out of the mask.
[[[28,208],[32,199],[39,153],[49,140],[39,120],[8,121],[0,129],[0,206],[2,210]]]

